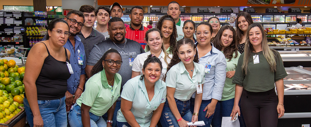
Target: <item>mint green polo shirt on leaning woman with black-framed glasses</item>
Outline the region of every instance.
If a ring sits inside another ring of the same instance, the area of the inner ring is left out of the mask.
[[[121,81],[121,75],[116,73],[113,87],[109,86],[105,69],[103,69],[87,80],[85,91],[76,102],[79,106],[81,106],[81,103],[90,106],[91,113],[102,116],[120,96]]]

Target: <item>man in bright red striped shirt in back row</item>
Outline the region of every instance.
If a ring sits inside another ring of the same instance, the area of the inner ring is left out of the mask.
[[[125,38],[137,41],[142,45],[142,48],[145,49],[145,35],[149,28],[142,26],[144,10],[140,6],[134,6],[131,9],[129,17],[131,19],[131,25],[126,28]]]

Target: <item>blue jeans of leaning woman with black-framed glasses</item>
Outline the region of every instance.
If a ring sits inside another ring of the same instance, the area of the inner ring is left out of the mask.
[[[72,110],[68,114],[68,122],[72,127],[83,127],[81,119],[81,107],[76,103],[73,105]],[[101,117],[97,116],[91,112],[90,114],[90,124],[91,127],[107,127],[106,121]]]

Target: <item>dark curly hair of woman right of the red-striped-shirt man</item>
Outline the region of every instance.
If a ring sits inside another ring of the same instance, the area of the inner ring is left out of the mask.
[[[177,28],[176,28],[176,24],[175,24],[173,17],[170,15],[162,16],[159,19],[159,21],[156,23],[156,28],[161,31],[163,22],[166,20],[173,22],[173,33],[171,34],[170,39],[169,39],[169,52],[173,53],[173,50],[174,50],[174,47],[175,47],[176,41],[177,41],[176,40],[177,39]]]

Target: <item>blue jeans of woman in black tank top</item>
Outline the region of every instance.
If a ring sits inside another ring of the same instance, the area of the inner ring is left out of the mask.
[[[67,127],[66,96],[55,100],[38,100],[44,127]],[[30,127],[34,126],[34,115],[27,98],[24,98],[26,116]]]

